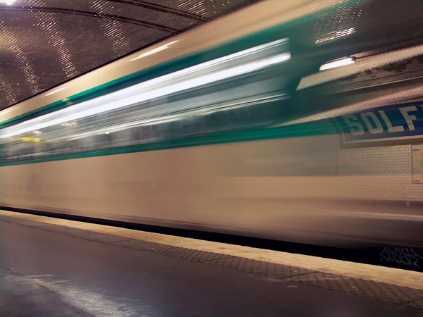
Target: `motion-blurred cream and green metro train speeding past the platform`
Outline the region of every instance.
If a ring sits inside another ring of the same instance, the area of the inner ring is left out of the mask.
[[[265,0],[11,106],[0,205],[422,248],[422,12]]]

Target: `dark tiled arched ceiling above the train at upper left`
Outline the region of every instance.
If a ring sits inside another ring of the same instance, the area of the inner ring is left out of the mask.
[[[0,110],[257,0],[16,0],[0,4]]]

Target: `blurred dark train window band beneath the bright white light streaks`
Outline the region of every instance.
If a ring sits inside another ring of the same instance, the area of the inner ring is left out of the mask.
[[[44,128],[37,135],[27,132],[20,137],[40,142],[13,138],[4,144],[8,151],[0,159],[21,161],[263,127],[279,120],[287,108],[287,82],[283,68],[260,70]]]

